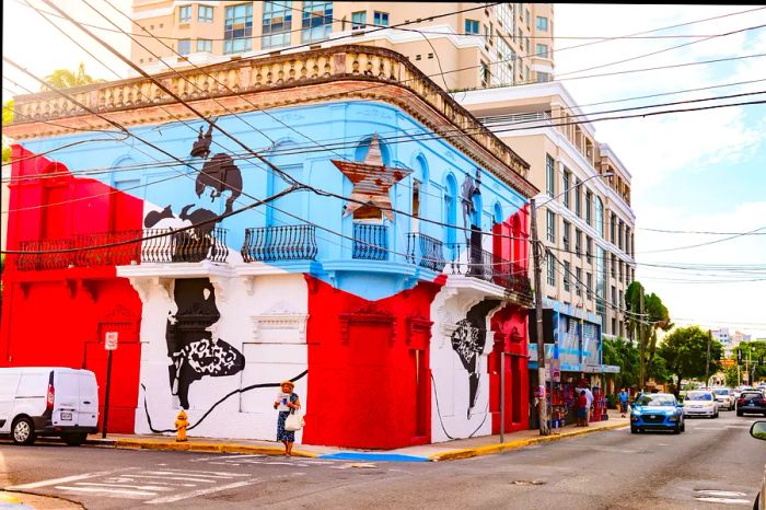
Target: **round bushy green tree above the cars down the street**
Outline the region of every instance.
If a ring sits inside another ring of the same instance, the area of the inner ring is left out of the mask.
[[[709,339],[707,332],[703,332],[699,326],[678,327],[671,332],[660,346],[658,352],[664,359],[668,372],[676,376],[676,392],[684,379],[705,378],[708,340],[709,374],[713,374],[721,369],[719,360],[723,355],[723,345],[716,339]]]

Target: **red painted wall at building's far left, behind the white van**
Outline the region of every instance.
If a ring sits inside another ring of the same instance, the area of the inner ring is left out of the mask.
[[[143,202],[61,164],[13,146],[8,248],[23,241],[70,240],[107,232],[112,224],[140,229]],[[56,174],[55,177],[51,177]],[[113,193],[115,192],[115,193]],[[58,204],[59,205],[51,205]],[[40,207],[42,206],[42,207]],[[114,218],[119,218],[117,223]],[[101,241],[103,242],[103,241]],[[49,257],[65,255],[50,254]],[[0,367],[58,366],[96,373],[100,404],[106,386],[104,333],[119,332],[113,356],[109,431],[132,432],[138,402],[141,302],[115,266],[19,270],[9,256],[3,273]],[[102,415],[103,416],[103,415]]]

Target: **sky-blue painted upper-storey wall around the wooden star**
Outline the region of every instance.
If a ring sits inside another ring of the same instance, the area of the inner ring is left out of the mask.
[[[330,162],[332,159],[363,160],[369,140],[378,134],[386,165],[405,167],[413,174],[392,187],[391,201],[396,213],[388,225],[388,262],[385,267],[368,260],[353,260],[353,268],[367,268],[363,274],[347,273],[351,259],[353,219],[344,216],[345,200],[320,196],[309,190],[292,193],[270,206],[260,206],[223,220],[219,227],[228,229],[227,244],[234,253],[244,241],[246,228],[297,224],[310,221],[316,224],[321,264],[295,266],[292,263],[269,263],[285,270],[306,271],[365,299],[381,299],[411,288],[418,279],[433,279],[436,274],[421,267],[406,265],[407,233],[414,230],[411,187],[420,181],[420,220],[418,231],[444,243],[465,243],[465,234],[441,223],[465,227],[461,211],[460,186],[465,175],[476,175],[476,164],[444,139],[411,139],[427,129],[397,107],[378,102],[337,102],[292,108],[242,113],[222,116],[216,124],[242,140],[254,151],[287,172],[290,176],[315,188],[349,196],[351,182]],[[201,120],[173,121],[130,128],[139,137],[187,162],[190,166],[171,161],[167,155],[140,141],[119,134],[82,132],[66,137],[30,140],[24,147],[35,153],[44,153],[61,146],[78,143],[56,150],[47,157],[63,163],[72,173],[102,181],[117,189],[144,200],[148,210],[161,210],[171,206],[174,213],[188,204],[224,211],[223,200],[213,201],[195,193],[195,178],[201,169],[201,160],[192,158],[189,151],[197,140]],[[292,126],[291,129],[288,126]],[[257,128],[256,129],[254,129]],[[121,139],[121,141],[120,141]],[[328,150],[316,148],[315,141]],[[344,143],[341,147],[337,143]],[[288,184],[263,162],[247,154],[234,141],[213,131],[211,155],[236,153],[243,177],[243,194],[233,208],[237,209],[285,189]],[[130,169],[129,165],[134,165]],[[114,171],[117,167],[121,170]],[[484,232],[491,232],[492,224],[506,220],[524,206],[523,197],[508,185],[481,171],[481,196],[477,204]],[[450,206],[452,204],[452,206]],[[492,251],[491,237],[484,236],[485,250]],[[445,251],[445,257],[449,253]],[[393,265],[392,265],[393,264]],[[397,269],[396,264],[402,266]],[[332,275],[330,275],[332,274]]]

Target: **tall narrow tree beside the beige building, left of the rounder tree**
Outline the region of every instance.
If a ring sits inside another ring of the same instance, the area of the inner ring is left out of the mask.
[[[643,387],[647,375],[655,372],[658,331],[670,331],[673,324],[660,297],[653,292],[647,294],[639,281],[632,281],[626,289],[625,304],[628,334],[638,341],[638,384]]]

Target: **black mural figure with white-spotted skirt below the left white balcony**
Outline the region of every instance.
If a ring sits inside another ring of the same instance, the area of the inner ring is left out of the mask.
[[[173,299],[175,314],[167,317],[167,367],[173,395],[189,408],[189,386],[206,375],[233,375],[245,367],[245,358],[230,344],[213,337],[210,328],[221,317],[216,290],[207,278],[178,279]]]

